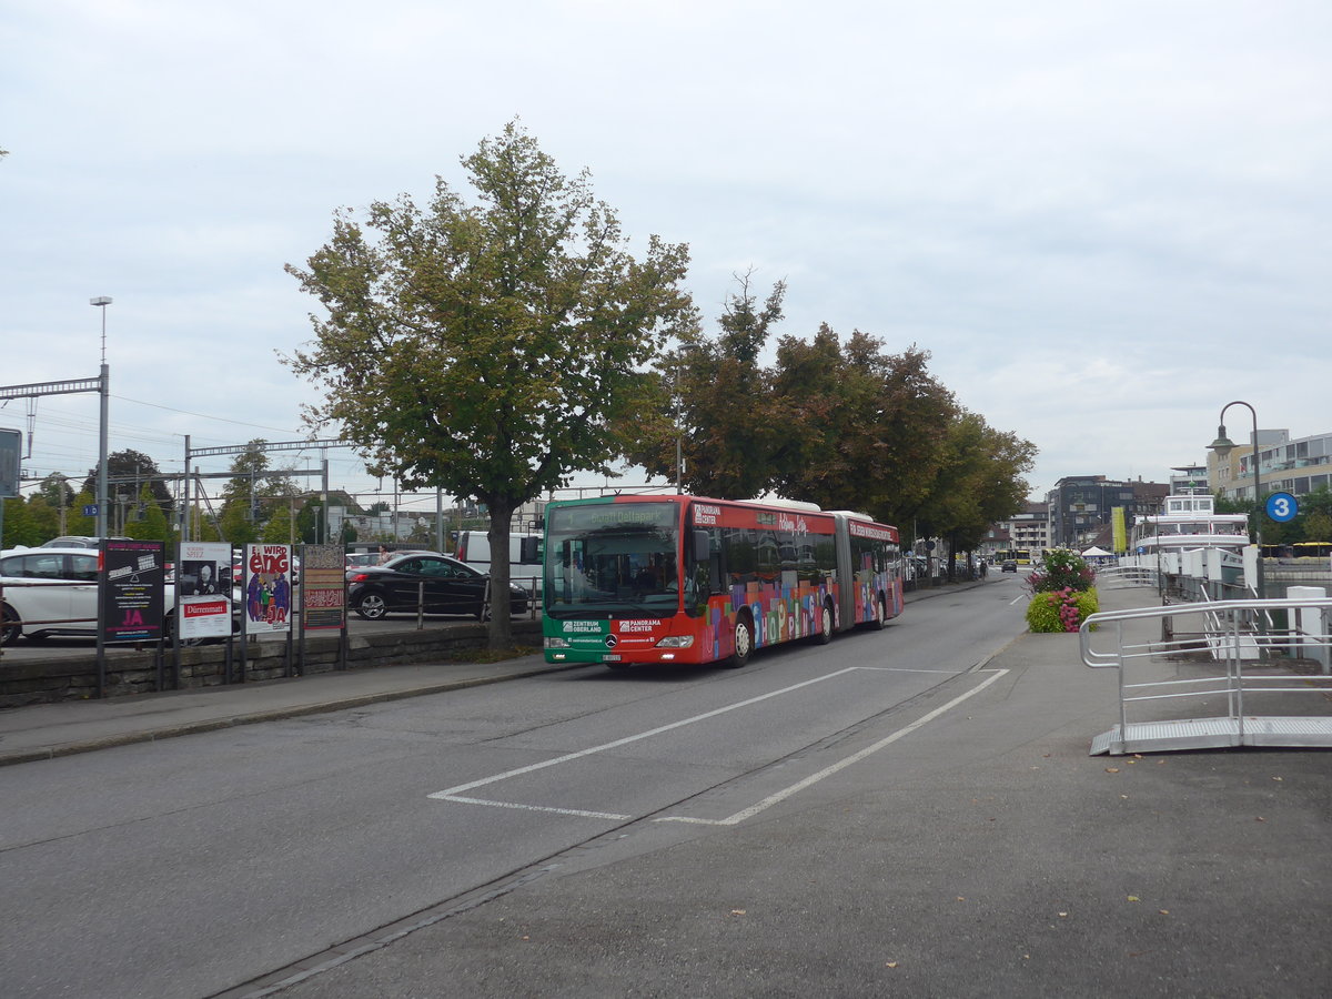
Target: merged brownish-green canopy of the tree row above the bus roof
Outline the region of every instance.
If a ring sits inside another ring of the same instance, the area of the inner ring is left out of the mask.
[[[786,285],[761,305],[750,278],[737,276],[715,336],[694,333],[662,357],[657,416],[626,428],[631,460],[693,493],[775,490],[958,546],[1022,507],[1035,448],[958,405],[915,345],[891,354],[823,324],[809,340],[782,337],[775,362],[761,364]]]

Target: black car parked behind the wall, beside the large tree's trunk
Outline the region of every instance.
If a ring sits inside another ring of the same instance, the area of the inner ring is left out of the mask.
[[[396,555],[384,565],[358,566],[346,574],[348,606],[366,621],[378,621],[392,611],[426,614],[466,614],[485,618],[486,586],[490,577],[465,562],[437,554]],[[513,614],[527,610],[527,591],[509,586]]]

